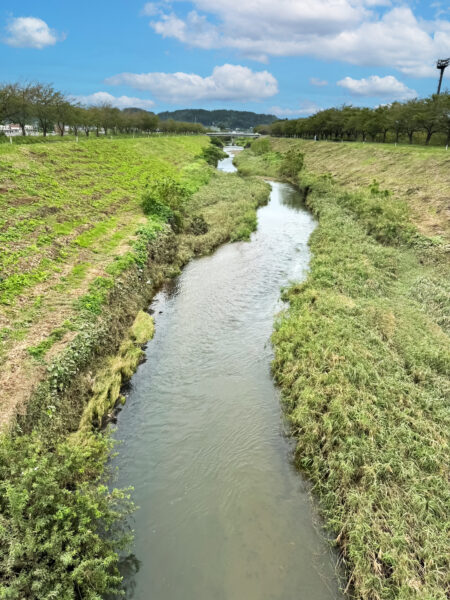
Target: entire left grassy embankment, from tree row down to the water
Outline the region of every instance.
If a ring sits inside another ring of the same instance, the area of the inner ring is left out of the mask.
[[[254,228],[268,186],[215,173],[201,137],[0,147],[0,598],[100,598],[120,584],[126,493],[96,431],[152,335],[144,312],[193,255]],[[182,224],[147,184],[186,192]],[[107,535],[103,535],[107,532]]]

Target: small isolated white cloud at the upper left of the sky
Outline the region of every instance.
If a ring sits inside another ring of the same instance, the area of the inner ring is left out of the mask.
[[[58,34],[50,29],[45,21],[36,17],[17,17],[11,19],[6,26],[8,37],[5,43],[15,48],[37,48],[41,50],[45,46],[53,46],[65,38],[64,34]]]

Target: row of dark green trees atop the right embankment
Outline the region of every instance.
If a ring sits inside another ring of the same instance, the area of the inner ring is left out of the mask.
[[[329,108],[311,117],[276,121],[255,130],[279,137],[410,144],[420,141],[427,145],[433,136],[440,134],[450,144],[450,93],[377,108]]]

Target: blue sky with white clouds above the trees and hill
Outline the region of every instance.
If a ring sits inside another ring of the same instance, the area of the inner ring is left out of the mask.
[[[436,91],[450,4],[424,0],[2,0],[1,81],[85,104],[308,116]],[[450,88],[450,67],[443,88]]]

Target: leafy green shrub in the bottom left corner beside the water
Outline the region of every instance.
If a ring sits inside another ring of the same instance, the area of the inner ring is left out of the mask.
[[[102,483],[110,442],[0,439],[0,598],[100,600],[118,592],[117,551],[130,541],[126,492]]]

